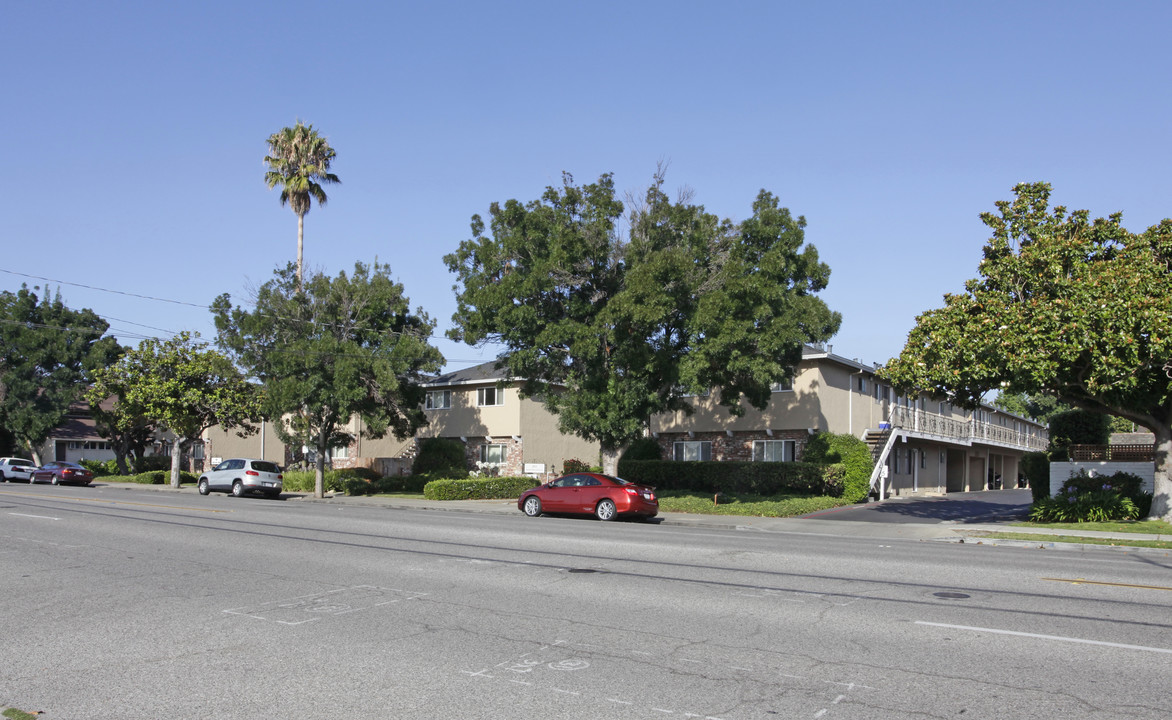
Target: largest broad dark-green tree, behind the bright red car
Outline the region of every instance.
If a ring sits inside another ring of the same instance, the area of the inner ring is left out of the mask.
[[[493,203],[488,226],[473,216],[444,258],[458,281],[449,335],[503,344],[523,394],[598,441],[611,473],[652,415],[689,410],[689,393],[715,389],[734,414],[764,407],[803,344],[840,322],[815,294],[830,269],[804,245],[805,218],[763,190],[751,218],[722,220],[662,185],[660,171],[624,238],[613,178],[566,175],[537,201]]]

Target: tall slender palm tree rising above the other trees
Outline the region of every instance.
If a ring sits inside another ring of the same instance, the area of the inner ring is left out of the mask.
[[[301,287],[301,256],[305,246],[305,213],[312,201],[326,204],[325,183],[341,183],[329,171],[329,163],[338,154],[313,125],[297,121],[292,128],[281,128],[268,137],[265,182],[272,190],[280,185],[281,205],[288,203],[297,213],[297,285]]]

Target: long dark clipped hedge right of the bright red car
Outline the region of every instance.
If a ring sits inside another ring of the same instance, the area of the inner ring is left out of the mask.
[[[754,495],[843,494],[844,468],[809,462],[680,462],[626,460],[619,462],[624,480],[656,490],[741,493]]]

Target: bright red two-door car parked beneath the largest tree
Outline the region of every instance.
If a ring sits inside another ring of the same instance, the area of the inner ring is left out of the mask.
[[[600,473],[574,473],[522,493],[517,509],[537,517],[543,512],[593,515],[614,519],[620,515],[643,518],[659,515],[655,488]]]

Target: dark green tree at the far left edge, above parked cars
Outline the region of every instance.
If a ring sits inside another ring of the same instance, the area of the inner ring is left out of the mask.
[[[109,324],[27,286],[0,293],[0,424],[40,464],[40,448],[95,369],[118,354]]]

